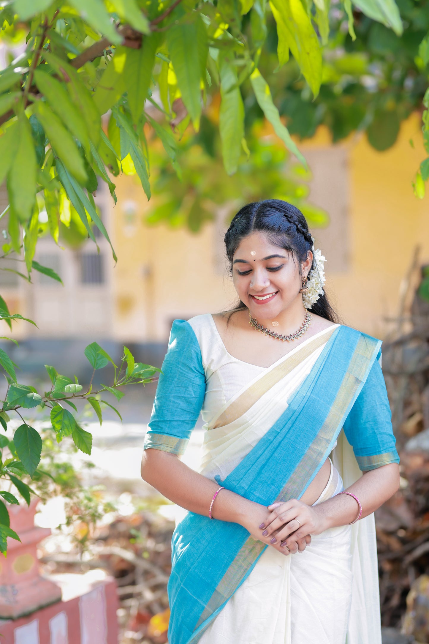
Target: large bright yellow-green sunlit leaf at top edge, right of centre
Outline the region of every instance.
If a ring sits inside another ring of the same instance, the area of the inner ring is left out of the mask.
[[[287,46],[316,97],[322,81],[322,48],[311,18],[301,0],[270,0],[269,6],[277,23],[280,64],[286,62]]]

